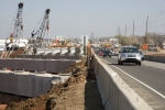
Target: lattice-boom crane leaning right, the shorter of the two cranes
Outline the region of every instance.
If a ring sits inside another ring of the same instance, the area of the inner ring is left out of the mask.
[[[45,14],[44,14],[44,18],[43,18],[43,21],[41,23],[41,26],[40,29],[35,32],[35,29],[33,30],[33,32],[31,33],[32,35],[32,46],[34,48],[38,48],[38,47],[42,47],[44,46],[43,45],[43,41],[44,41],[44,35],[45,35],[45,31],[47,30],[47,33],[48,33],[48,29],[50,29],[50,20],[48,20],[48,15],[50,15],[50,9],[46,9],[45,10]],[[37,34],[36,37],[34,37],[35,35]]]

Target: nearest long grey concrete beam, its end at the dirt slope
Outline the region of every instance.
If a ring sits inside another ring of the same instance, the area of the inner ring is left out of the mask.
[[[53,79],[64,82],[69,76],[0,70],[0,91],[16,96],[37,97],[46,94]]]

